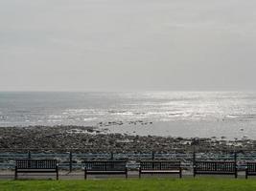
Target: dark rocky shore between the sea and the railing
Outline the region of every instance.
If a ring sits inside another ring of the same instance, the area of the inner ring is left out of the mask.
[[[107,129],[90,126],[1,127],[2,150],[59,150],[92,153],[169,153],[205,150],[253,150],[256,140],[225,138],[172,138],[108,134]]]

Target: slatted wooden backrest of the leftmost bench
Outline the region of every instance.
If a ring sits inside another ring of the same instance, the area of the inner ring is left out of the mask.
[[[17,169],[56,169],[56,159],[16,159]]]

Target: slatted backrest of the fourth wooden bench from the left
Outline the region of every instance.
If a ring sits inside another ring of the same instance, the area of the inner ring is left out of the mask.
[[[235,172],[235,161],[196,161],[197,171]]]

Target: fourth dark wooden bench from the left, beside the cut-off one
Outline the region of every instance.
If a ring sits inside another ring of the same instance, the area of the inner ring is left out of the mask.
[[[234,175],[238,176],[235,161],[196,161],[194,165],[194,177],[204,175]]]

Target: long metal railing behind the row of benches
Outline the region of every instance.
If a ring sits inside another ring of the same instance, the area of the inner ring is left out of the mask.
[[[151,153],[92,153],[81,152],[76,149],[63,150],[58,149],[0,149],[0,169],[13,169],[15,159],[58,159],[59,169],[73,171],[83,167],[84,160],[93,159],[127,159],[128,166],[136,168],[139,160],[143,159],[178,159],[181,160],[184,168],[192,168],[196,160],[235,160],[243,169],[245,161],[256,160],[256,150],[247,151],[197,151],[192,149],[188,151],[175,150],[170,153],[160,153],[152,151]]]

